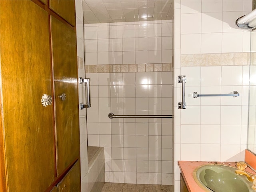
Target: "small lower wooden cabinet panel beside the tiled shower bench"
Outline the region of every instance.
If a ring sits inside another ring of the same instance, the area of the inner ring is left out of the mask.
[[[58,184],[60,192],[80,192],[80,159],[74,164],[63,180]]]

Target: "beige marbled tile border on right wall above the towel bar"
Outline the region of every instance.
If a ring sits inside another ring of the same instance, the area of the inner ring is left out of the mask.
[[[249,64],[249,52],[181,55],[181,66],[232,66]]]

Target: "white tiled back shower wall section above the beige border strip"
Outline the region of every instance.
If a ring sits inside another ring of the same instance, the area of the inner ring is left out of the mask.
[[[172,20],[85,24],[86,65],[172,62]]]

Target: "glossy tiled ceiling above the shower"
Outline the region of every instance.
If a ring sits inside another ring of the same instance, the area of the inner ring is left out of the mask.
[[[173,0],[84,0],[84,24],[173,19]]]

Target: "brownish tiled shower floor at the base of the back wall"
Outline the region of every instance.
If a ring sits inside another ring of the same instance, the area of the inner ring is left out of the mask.
[[[101,192],[173,192],[173,185],[105,183]]]

